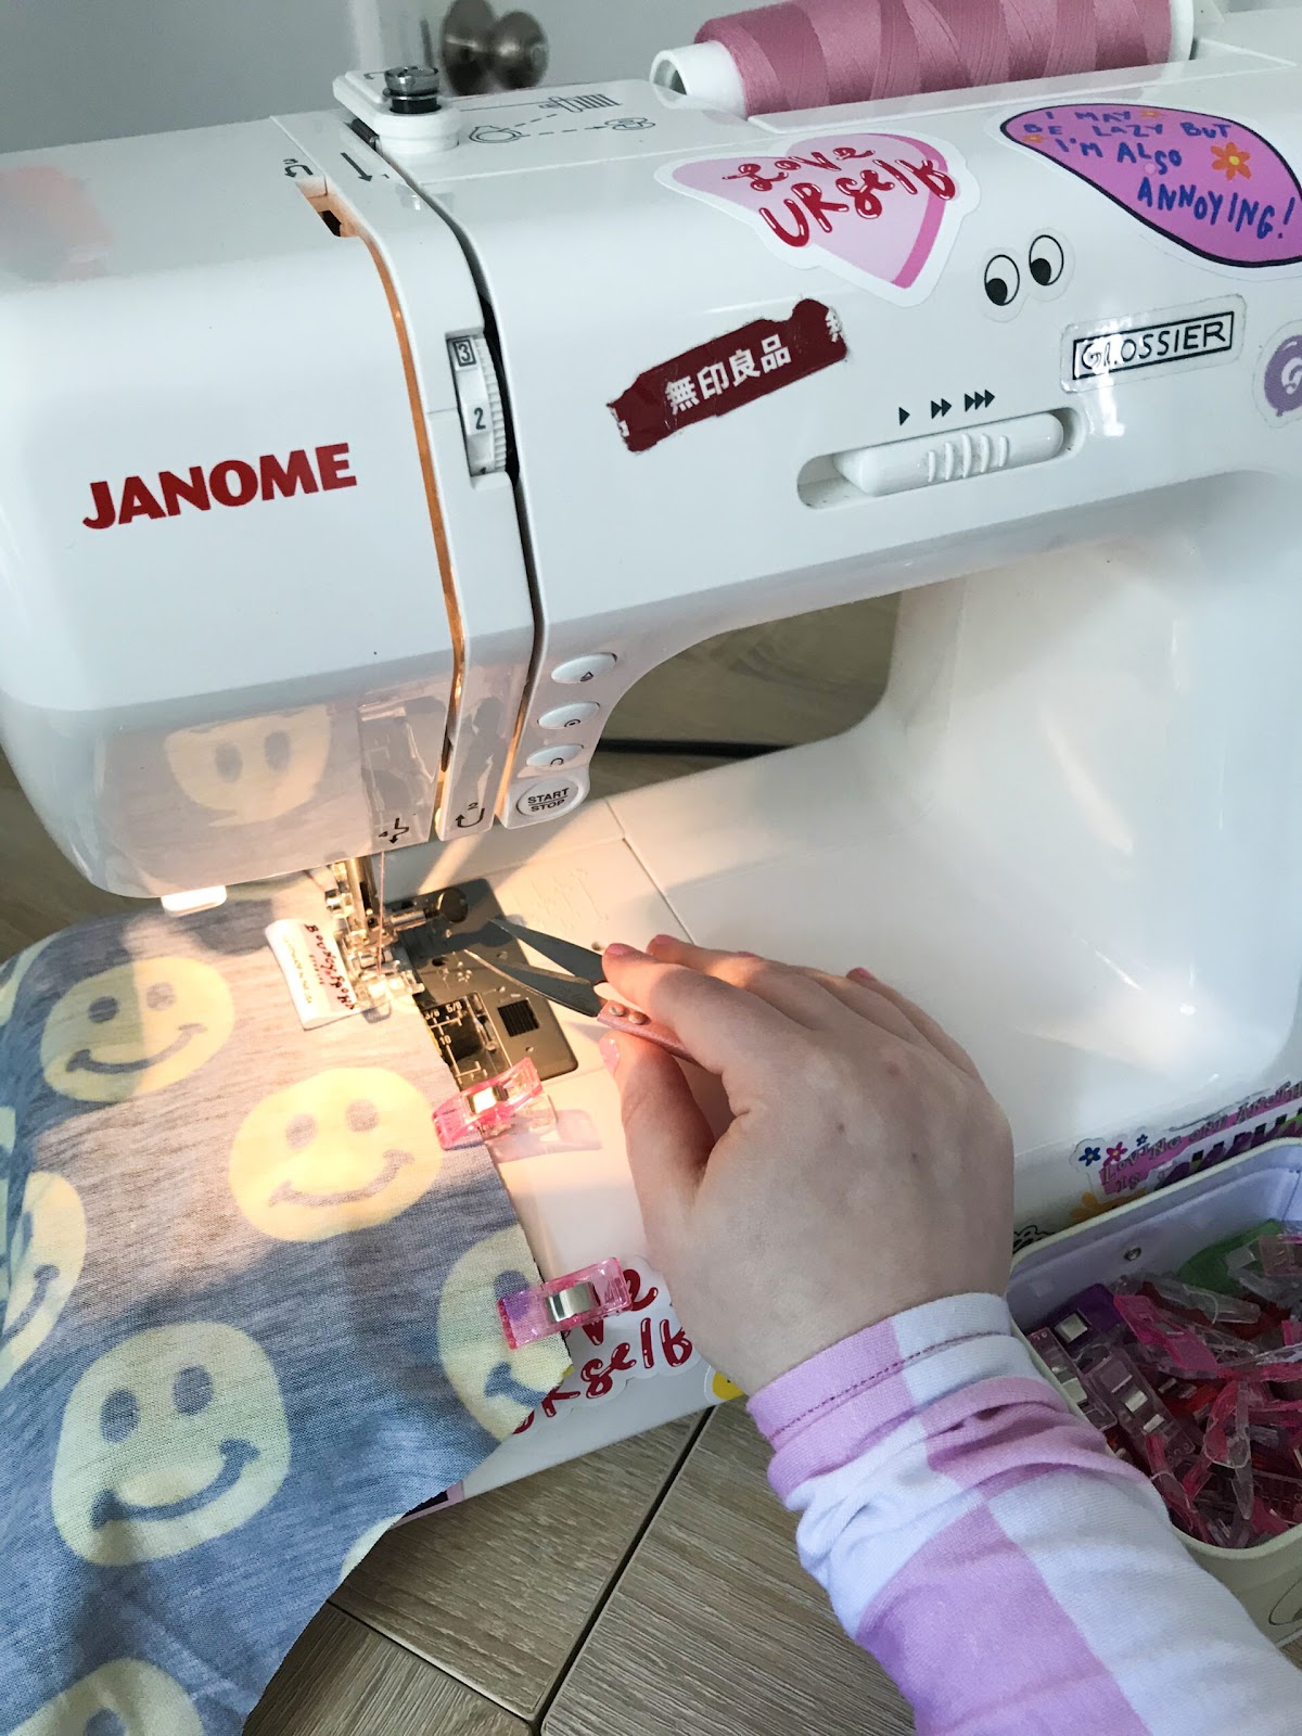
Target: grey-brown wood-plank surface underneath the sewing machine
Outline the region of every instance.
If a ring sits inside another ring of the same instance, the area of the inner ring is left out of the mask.
[[[698,646],[628,694],[615,733],[833,734],[880,696],[892,621],[892,602],[868,602]],[[604,753],[594,792],[707,764]],[[0,958],[115,908],[0,759]],[[250,1736],[910,1731],[797,1566],[766,1457],[727,1404],[391,1533],[307,1627]]]

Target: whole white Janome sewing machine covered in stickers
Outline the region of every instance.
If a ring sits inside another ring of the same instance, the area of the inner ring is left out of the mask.
[[[1248,12],[755,122],[349,75],[0,160],[0,740],[43,823],[142,898],[389,851],[394,903],[488,877],[585,944],[866,963],[976,1054],[1040,1231],[1083,1141],[1292,1088],[1300,56]],[[896,590],[866,722],[585,806],[646,670]],[[642,1246],[561,1024],[592,1137],[502,1170],[547,1274]],[[472,1486],[703,1401],[632,1380]]]

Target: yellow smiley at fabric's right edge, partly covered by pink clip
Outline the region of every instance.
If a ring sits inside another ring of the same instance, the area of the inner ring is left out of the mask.
[[[505,1441],[564,1375],[564,1338],[512,1351],[496,1304],[538,1283],[519,1224],[484,1236],[448,1274],[439,1297],[439,1359],[457,1397],[495,1441]]]

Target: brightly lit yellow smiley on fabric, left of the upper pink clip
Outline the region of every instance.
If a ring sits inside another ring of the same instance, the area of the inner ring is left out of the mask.
[[[231,1147],[231,1193],[253,1229],[325,1241],[387,1224],[437,1179],[431,1108],[399,1073],[333,1068],[264,1097]]]

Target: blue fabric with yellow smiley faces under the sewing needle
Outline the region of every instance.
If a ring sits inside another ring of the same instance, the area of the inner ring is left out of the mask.
[[[566,1370],[411,1005],[304,1031],[309,878],[0,970],[0,1729],[236,1736],[340,1571]],[[446,1302],[444,1302],[446,1299]],[[80,1722],[78,1722],[80,1720]]]

